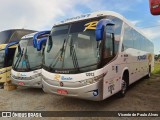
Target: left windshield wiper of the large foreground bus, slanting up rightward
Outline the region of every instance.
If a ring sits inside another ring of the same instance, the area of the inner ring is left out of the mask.
[[[51,65],[50,65],[50,68],[55,67],[56,64],[58,63],[58,61],[62,61],[62,60],[64,61],[63,54],[65,52],[65,43],[66,43],[66,39],[64,39],[62,48],[60,48],[60,50],[58,51],[57,55],[55,56],[55,58],[56,58],[55,63],[53,64],[53,62],[54,62],[53,61],[51,63]],[[59,56],[59,54],[60,54],[60,56]]]

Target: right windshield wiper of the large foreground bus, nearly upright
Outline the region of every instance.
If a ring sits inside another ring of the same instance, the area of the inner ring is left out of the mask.
[[[73,66],[79,71],[79,65],[77,60],[77,55],[75,51],[75,47],[73,46],[73,39],[70,41],[70,56],[72,56]]]

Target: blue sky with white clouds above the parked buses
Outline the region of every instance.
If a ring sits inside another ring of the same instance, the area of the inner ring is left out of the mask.
[[[160,54],[160,16],[150,14],[149,0],[0,0],[0,31],[51,30],[54,23],[95,11],[114,11],[132,22]]]

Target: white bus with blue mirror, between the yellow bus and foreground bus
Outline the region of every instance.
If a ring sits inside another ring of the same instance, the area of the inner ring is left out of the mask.
[[[41,68],[44,48],[50,31],[22,37],[14,55],[11,70],[12,84],[41,88]]]

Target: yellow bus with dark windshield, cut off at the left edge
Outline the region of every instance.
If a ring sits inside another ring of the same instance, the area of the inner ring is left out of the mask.
[[[17,44],[22,36],[33,30],[10,29],[0,32],[0,83],[10,81],[10,70]]]

